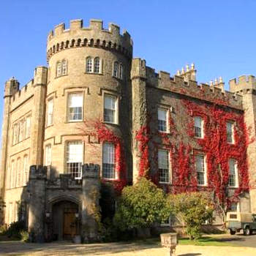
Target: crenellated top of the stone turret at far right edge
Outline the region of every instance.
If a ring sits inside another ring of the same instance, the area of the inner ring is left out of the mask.
[[[242,93],[248,89],[256,90],[256,78],[254,75],[241,75],[238,79],[231,79],[229,84],[230,91],[236,93]]]

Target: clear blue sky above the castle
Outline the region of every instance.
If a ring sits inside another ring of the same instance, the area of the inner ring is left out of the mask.
[[[23,86],[34,67],[47,65],[46,37],[61,22],[90,18],[117,23],[134,41],[134,56],[173,75],[195,62],[197,80],[208,82],[256,75],[256,1],[5,1],[0,4],[0,108],[4,82],[15,76]],[[0,120],[2,113],[0,113]],[[1,127],[1,126],[0,126]]]

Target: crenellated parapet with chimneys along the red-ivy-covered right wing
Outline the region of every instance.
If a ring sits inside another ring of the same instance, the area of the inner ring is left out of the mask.
[[[146,75],[144,75],[144,69],[146,69]],[[206,83],[198,85],[196,80],[188,80],[185,75],[187,72],[195,72],[195,65],[192,64],[191,69],[181,70],[178,75],[171,77],[169,72],[155,72],[155,69],[147,67],[144,60],[132,60],[132,79],[146,79],[147,86],[242,110],[242,97],[236,93],[225,91],[222,78],[215,79],[215,82],[211,81],[210,85]]]

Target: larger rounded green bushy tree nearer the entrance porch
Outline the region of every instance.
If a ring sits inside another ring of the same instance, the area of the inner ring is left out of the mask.
[[[142,177],[133,186],[124,187],[114,224],[121,230],[151,227],[154,222],[160,223],[169,216],[170,204],[165,193]]]

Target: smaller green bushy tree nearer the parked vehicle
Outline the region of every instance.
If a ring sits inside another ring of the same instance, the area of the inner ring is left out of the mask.
[[[186,192],[169,195],[170,206],[176,219],[181,222],[189,238],[201,236],[201,227],[206,221],[211,221],[214,207],[206,192]]]

